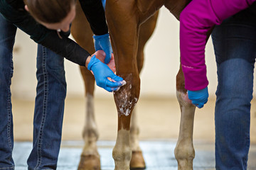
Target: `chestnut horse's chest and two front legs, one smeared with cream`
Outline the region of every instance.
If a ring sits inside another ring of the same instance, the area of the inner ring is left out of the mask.
[[[106,19],[109,26],[110,38],[115,57],[117,75],[127,84],[114,92],[117,106],[118,130],[117,141],[112,151],[114,169],[129,169],[132,158],[130,147],[130,120],[132,111],[139,99],[140,79],[137,63],[140,26],[159,8],[165,6],[179,19],[181,11],[190,0],[107,0]],[[181,64],[180,64],[181,65]],[[181,123],[178,142],[174,154],[178,169],[193,169],[195,150],[193,148],[193,119],[196,106],[188,100],[184,87],[184,76],[180,66],[176,75],[176,96],[181,108]]]

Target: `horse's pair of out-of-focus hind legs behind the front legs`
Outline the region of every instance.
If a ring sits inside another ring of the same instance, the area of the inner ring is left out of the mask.
[[[157,11],[154,15],[150,16],[141,26],[139,33],[139,42],[137,48],[137,71],[141,72],[144,62],[144,46],[151,37],[156,27],[156,21],[159,12]],[[85,15],[80,7],[79,1],[76,4],[76,16],[71,26],[71,35],[78,44],[85,48],[90,54],[95,52],[92,30],[90,25],[85,18]],[[94,90],[95,90],[95,79],[90,71],[86,67],[80,67],[80,73],[85,84],[85,98],[86,98],[86,115],[85,125],[82,131],[82,138],[84,140],[84,147],[80,157],[80,163],[78,165],[79,170],[85,169],[100,169],[100,155],[97,152],[97,139],[99,133],[97,131],[97,125],[95,122],[94,113]],[[129,166],[131,169],[145,169],[146,165],[142,154],[142,149],[139,147],[139,126],[137,123],[136,112],[133,111],[131,125],[130,125],[130,136],[129,145],[132,148],[131,161]]]

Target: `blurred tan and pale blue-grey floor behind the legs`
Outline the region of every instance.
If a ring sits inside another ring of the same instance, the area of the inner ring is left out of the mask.
[[[85,99],[67,98],[63,123],[63,142],[58,169],[73,170],[78,166],[82,152],[82,127],[85,118]],[[251,147],[248,167],[256,169],[256,110],[252,101]],[[33,101],[13,98],[14,160],[16,169],[26,169],[33,134]],[[117,136],[117,111],[109,98],[95,98],[95,118],[100,139],[98,142],[102,169],[114,169],[112,148]],[[180,111],[176,98],[140,98],[137,104],[140,127],[140,145],[147,170],[177,169],[174,147],[178,137]],[[194,124],[194,169],[214,169],[214,99],[196,110]]]

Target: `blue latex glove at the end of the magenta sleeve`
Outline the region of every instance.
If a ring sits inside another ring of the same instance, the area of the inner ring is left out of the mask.
[[[192,101],[192,104],[198,108],[203,108],[203,105],[208,101],[208,87],[198,91],[188,91],[188,98]]]

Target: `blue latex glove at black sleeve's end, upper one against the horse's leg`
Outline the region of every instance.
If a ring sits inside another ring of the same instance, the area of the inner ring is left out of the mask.
[[[103,50],[106,53],[105,64],[110,62],[111,54],[113,52],[112,46],[110,43],[110,34],[106,33],[105,35],[93,35],[95,39],[95,51]]]

